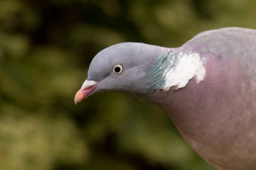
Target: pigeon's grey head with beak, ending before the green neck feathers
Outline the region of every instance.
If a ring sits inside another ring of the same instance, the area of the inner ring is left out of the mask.
[[[148,70],[157,56],[168,50],[169,48],[143,43],[120,43],[109,46],[93,58],[88,78],[77,92],[75,103],[104,91],[143,96],[152,87],[147,85]]]

